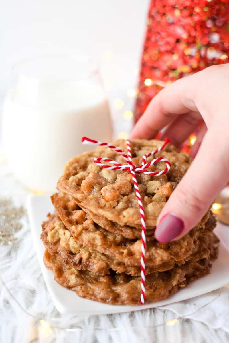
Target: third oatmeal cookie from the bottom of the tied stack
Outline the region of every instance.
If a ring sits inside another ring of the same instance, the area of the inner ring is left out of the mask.
[[[62,198],[65,203],[65,196],[58,194],[56,197]],[[120,234],[109,232],[96,224],[82,209],[64,210],[61,207],[61,201],[58,201],[56,210],[71,235],[83,247],[111,256],[124,262],[126,266],[139,266],[141,258],[140,239],[130,240]],[[212,215],[209,222],[215,223],[215,218]],[[159,243],[156,239],[148,241],[146,265],[155,267],[164,262],[177,263],[187,259],[198,242],[198,236],[204,235],[207,227],[206,225],[205,228],[204,224],[197,226],[178,241],[166,244]],[[212,229],[213,227],[214,224]]]

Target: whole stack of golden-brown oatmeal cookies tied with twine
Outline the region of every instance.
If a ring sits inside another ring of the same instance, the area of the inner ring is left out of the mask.
[[[131,142],[133,163],[163,142]],[[123,140],[114,142],[126,151]],[[209,273],[217,258],[216,225],[210,210],[183,238],[167,244],[154,238],[159,213],[190,166],[191,158],[173,145],[153,156],[171,163],[166,175],[137,174],[146,215],[146,301],[164,299],[191,281]],[[51,197],[56,212],[43,223],[44,263],[55,280],[79,296],[109,304],[138,304],[141,293],[141,222],[136,193],[128,171],[99,167],[94,158],[123,157],[100,146],[72,158]],[[150,160],[150,158],[148,158]],[[159,162],[148,168],[164,169]]]

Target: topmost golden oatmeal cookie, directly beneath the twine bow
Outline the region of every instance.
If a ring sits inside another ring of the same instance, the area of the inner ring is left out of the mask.
[[[131,141],[134,164],[141,165],[142,156],[162,144],[162,141],[157,140]],[[114,145],[127,151],[124,140],[117,140]],[[171,163],[171,169],[166,175],[136,174],[145,209],[147,229],[155,228],[161,210],[192,161],[188,154],[179,151],[171,144],[160,153],[149,157],[148,161],[159,156],[167,158]],[[126,164],[120,154],[99,146],[94,152],[86,152],[74,157],[66,164],[64,174],[58,181],[58,188],[72,195],[81,208],[97,216],[104,216],[119,226],[140,228],[138,202],[130,173],[122,170],[107,170],[99,166],[93,167],[96,157],[107,157]],[[161,171],[164,168],[164,162],[159,162],[148,169]]]

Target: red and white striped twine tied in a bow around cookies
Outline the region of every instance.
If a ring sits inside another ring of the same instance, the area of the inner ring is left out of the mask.
[[[146,265],[145,265],[145,257],[146,257],[146,218],[145,218],[145,213],[144,213],[144,208],[142,205],[141,201],[141,194],[138,188],[138,182],[136,179],[136,173],[144,173],[148,175],[155,175],[159,176],[162,174],[166,174],[167,171],[170,170],[170,162],[166,158],[158,157],[153,159],[152,161],[146,162],[147,157],[153,156],[157,152],[160,152],[168,143],[169,139],[165,139],[164,144],[159,147],[158,149],[154,150],[153,152],[146,154],[142,156],[142,164],[141,166],[135,166],[132,161],[132,155],[131,155],[131,149],[130,149],[130,141],[127,139],[126,140],[126,145],[127,145],[127,155],[125,152],[123,152],[121,149],[117,149],[114,145],[103,143],[103,142],[98,142],[95,141],[94,139],[90,139],[87,137],[82,138],[82,143],[83,144],[91,144],[91,145],[101,145],[101,146],[107,146],[108,148],[114,150],[115,152],[119,153],[122,155],[122,157],[125,159],[127,164],[121,164],[116,161],[113,161],[113,159],[110,158],[95,158],[94,163],[97,164],[98,166],[102,168],[107,168],[107,169],[113,169],[113,170],[127,170],[129,173],[132,175],[132,179],[134,182],[134,188],[136,192],[136,196],[138,199],[138,205],[139,205],[139,211],[140,211],[140,216],[141,216],[141,298],[140,298],[140,303],[144,304],[145,303],[145,281],[146,281]],[[104,164],[103,162],[109,162],[112,165],[107,165]],[[147,168],[152,166],[153,164],[156,164],[158,162],[165,162],[166,167],[161,170],[161,171],[148,171]]]

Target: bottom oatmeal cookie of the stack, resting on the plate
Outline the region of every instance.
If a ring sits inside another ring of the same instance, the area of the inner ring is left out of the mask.
[[[217,256],[217,248],[213,249],[213,258]],[[199,277],[209,273],[211,256],[198,261],[188,261],[175,266],[169,271],[155,272],[146,277],[146,303],[159,301],[183,288]],[[46,268],[54,273],[55,280],[62,286],[75,291],[83,298],[108,304],[139,304],[141,293],[140,276],[125,273],[101,276],[88,270],[78,270],[65,262],[57,254],[48,250],[44,254]]]

